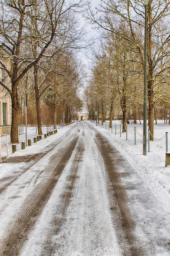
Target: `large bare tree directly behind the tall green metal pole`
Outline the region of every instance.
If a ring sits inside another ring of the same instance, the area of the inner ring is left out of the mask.
[[[144,1],[142,0],[101,0],[100,8],[90,20],[99,27],[117,34],[135,52],[133,61],[141,63],[144,69]],[[148,0],[148,124],[153,135],[155,87],[158,77],[169,69],[170,56],[170,1]],[[124,24],[128,29],[119,29]],[[153,139],[153,136],[150,136]]]

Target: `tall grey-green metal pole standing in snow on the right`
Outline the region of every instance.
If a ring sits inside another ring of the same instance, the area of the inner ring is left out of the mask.
[[[147,11],[148,0],[144,0],[145,4],[145,43],[144,43],[144,133],[143,133],[143,155],[146,155],[147,142]]]

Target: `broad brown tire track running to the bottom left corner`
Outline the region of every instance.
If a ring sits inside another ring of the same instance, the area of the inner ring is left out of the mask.
[[[4,238],[3,248],[1,249],[0,255],[15,256],[19,254],[29,230],[34,225],[38,215],[44,207],[44,204],[49,199],[64,166],[71,157],[75,145],[77,144],[77,139],[78,138],[75,137],[71,141],[70,145],[62,150],[62,158],[53,170],[52,174],[39,191],[37,193],[35,191],[35,194],[30,198],[29,205],[24,209],[23,213],[21,213],[20,218],[15,222],[13,228],[9,231],[9,234],[7,234],[7,237]]]

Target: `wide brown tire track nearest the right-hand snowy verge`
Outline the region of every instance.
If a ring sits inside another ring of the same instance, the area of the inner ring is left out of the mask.
[[[92,126],[89,126],[92,130]],[[143,248],[139,246],[139,241],[135,236],[135,222],[131,216],[130,210],[128,208],[128,196],[124,186],[121,184],[121,179],[117,168],[126,168],[126,163],[123,157],[114,150],[110,145],[109,141],[103,137],[97,130],[96,132],[96,144],[99,151],[103,157],[106,170],[110,177],[110,181],[113,186],[113,197],[117,205],[111,207],[113,215],[117,216],[116,220],[118,222],[117,235],[119,237],[120,245],[124,250],[124,255],[130,256],[144,256],[146,255]]]

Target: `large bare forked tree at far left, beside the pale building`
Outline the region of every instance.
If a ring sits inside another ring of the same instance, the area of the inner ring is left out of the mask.
[[[71,45],[75,42],[76,29],[65,37],[73,25],[71,13],[82,7],[83,0],[66,2],[65,0],[2,0],[0,2],[0,41],[1,46],[11,53],[11,68],[0,61],[0,66],[11,79],[11,86],[0,81],[10,93],[12,101],[11,142],[18,143],[18,84],[28,70],[35,67],[51,45],[54,52],[56,46]],[[39,10],[39,11],[37,11]],[[29,24],[36,20],[35,33]],[[74,37],[73,37],[74,35]],[[77,32],[79,37],[80,32]],[[76,35],[76,37],[77,37]],[[66,40],[65,40],[66,39]],[[64,41],[65,40],[65,41]],[[55,44],[52,44],[53,42]],[[34,54],[30,52],[33,45]],[[75,45],[74,45],[75,46]],[[58,49],[58,48],[57,48]]]

